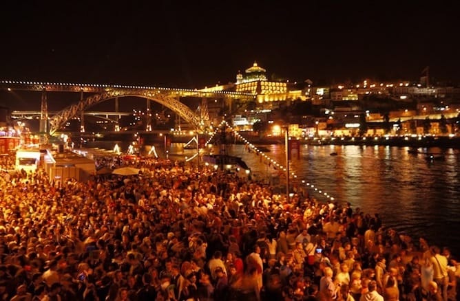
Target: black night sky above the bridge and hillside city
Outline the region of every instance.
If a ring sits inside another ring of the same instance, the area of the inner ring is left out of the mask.
[[[2,1],[0,78],[200,88],[257,60],[313,82],[460,80],[443,1]],[[453,3],[454,1],[452,1]]]

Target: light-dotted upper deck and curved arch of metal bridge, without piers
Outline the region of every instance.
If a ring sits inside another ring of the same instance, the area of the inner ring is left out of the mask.
[[[153,100],[163,104],[168,109],[178,113],[181,118],[189,122],[196,129],[204,129],[209,126],[209,120],[202,120],[194,111],[189,107],[182,104],[178,100],[180,97],[198,97],[198,98],[239,98],[251,99],[255,95],[251,93],[235,93],[230,91],[201,91],[197,89],[178,89],[178,88],[165,88],[165,87],[145,87],[145,86],[126,86],[126,85],[91,85],[91,84],[71,84],[71,83],[55,83],[55,82],[30,82],[30,81],[14,81],[14,80],[1,80],[0,89],[26,90],[26,91],[61,91],[61,92],[80,92],[83,93],[96,93],[85,99],[81,99],[77,104],[72,104],[63,109],[56,115],[49,119],[50,131],[53,135],[58,131],[67,120],[73,118],[77,113],[83,112],[94,104],[98,104],[105,100],[119,97],[142,97],[148,100]],[[177,99],[176,99],[177,98]],[[43,98],[42,98],[43,100]],[[43,106],[43,104],[42,104]],[[43,111],[43,109],[42,109]],[[48,109],[47,109],[48,111]],[[48,113],[46,119],[48,119]],[[43,118],[43,115],[42,115]]]

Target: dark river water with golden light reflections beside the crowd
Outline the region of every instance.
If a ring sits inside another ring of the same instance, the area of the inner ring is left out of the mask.
[[[159,153],[162,148],[157,146]],[[284,145],[266,148],[270,150],[266,155],[284,165]],[[449,246],[460,255],[459,150],[419,150],[443,153],[444,159],[430,162],[424,155],[409,154],[408,148],[389,146],[302,146],[300,159],[293,153],[290,170],[297,179],[291,183],[305,186],[304,179],[322,191],[309,188],[319,200],[326,201],[326,192],[335,201],[349,201],[366,213],[379,212],[386,227],[412,238],[424,236],[430,244]],[[176,157],[191,157],[195,152],[178,144],[169,149]],[[279,176],[279,170],[242,145],[231,145],[228,152],[242,157],[255,177]],[[337,156],[331,156],[332,152]]]

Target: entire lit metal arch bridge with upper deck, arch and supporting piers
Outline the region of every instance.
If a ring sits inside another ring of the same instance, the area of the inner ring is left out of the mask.
[[[95,104],[105,100],[115,99],[115,112],[118,115],[118,98],[123,97],[140,97],[147,100],[147,114],[150,111],[151,101],[163,104],[163,106],[177,113],[180,118],[185,120],[199,131],[204,131],[209,127],[209,116],[207,113],[207,98],[224,98],[231,101],[233,99],[254,100],[255,95],[251,93],[236,93],[231,91],[205,91],[198,89],[180,89],[168,87],[147,87],[147,86],[128,86],[128,85],[96,85],[96,84],[78,84],[65,82],[34,82],[34,81],[16,81],[1,80],[0,89],[8,91],[40,91],[41,94],[41,111],[40,111],[40,131],[53,135],[61,127],[81,114],[81,131],[85,131],[83,120],[85,111]],[[48,92],[75,92],[80,93],[80,101],[69,107],[57,112],[50,117],[48,112],[47,94]],[[85,96],[87,93],[87,96]],[[89,94],[89,95],[88,95]],[[200,115],[197,115],[185,104],[180,102],[180,98],[202,98],[202,109]],[[48,129],[48,124],[50,128]],[[146,131],[151,131],[151,124],[147,122]]]

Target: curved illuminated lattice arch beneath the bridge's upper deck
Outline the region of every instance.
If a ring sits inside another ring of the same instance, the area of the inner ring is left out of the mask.
[[[174,95],[171,96],[166,91],[159,91],[155,89],[107,89],[107,91],[104,91],[103,93],[89,96],[77,104],[72,104],[70,107],[63,109],[50,118],[50,135],[56,133],[56,131],[58,131],[61,126],[67,122],[67,120],[70,120],[79,112],[85,111],[95,104],[117,97],[121,98],[129,96],[147,98],[154,102],[158,102],[159,104],[163,104],[168,109],[178,113],[185,122],[194,126],[195,129],[202,130],[206,126],[206,124],[200,120],[200,117],[196,115],[194,111],[191,111],[191,109],[189,109],[189,107],[185,104],[176,100]]]

